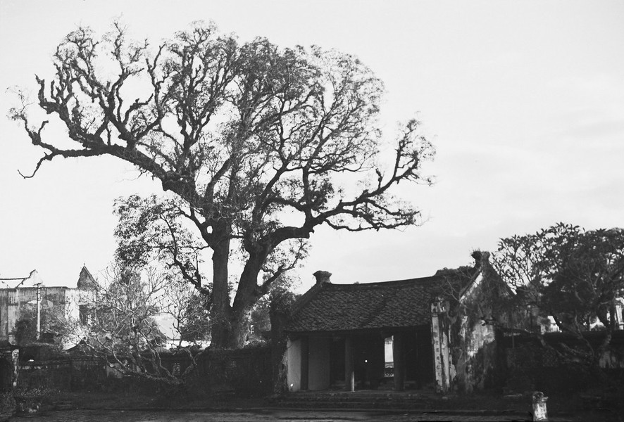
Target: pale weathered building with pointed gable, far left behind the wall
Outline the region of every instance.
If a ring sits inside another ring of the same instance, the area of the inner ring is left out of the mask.
[[[36,322],[37,302],[41,309],[54,308],[71,319],[85,319],[89,307],[89,291],[97,282],[83,266],[77,287],[44,286],[37,270],[23,279],[1,279],[6,288],[0,288],[0,340],[15,343],[15,324],[21,318],[33,318]],[[43,335],[44,333],[42,333]]]

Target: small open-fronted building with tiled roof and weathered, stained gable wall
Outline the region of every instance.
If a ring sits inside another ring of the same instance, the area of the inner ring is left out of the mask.
[[[491,304],[509,291],[487,252],[473,257],[474,267],[381,283],[317,271],[285,326],[287,390],[376,389],[389,372],[394,390],[483,388],[496,371],[490,323],[505,317]]]

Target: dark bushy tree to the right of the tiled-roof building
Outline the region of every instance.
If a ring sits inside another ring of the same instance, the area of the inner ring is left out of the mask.
[[[501,239],[493,264],[521,307],[551,316],[559,330],[582,341],[584,350],[569,352],[599,359],[617,328],[616,305],[624,296],[623,229],[559,223]],[[592,329],[606,333],[598,347],[587,340]]]

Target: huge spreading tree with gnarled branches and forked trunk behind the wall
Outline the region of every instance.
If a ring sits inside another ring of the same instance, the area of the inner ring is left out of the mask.
[[[71,32],[53,61],[54,77],[36,78],[36,105],[75,146],[46,139],[48,121],[33,125],[26,106],[13,109],[44,150],[25,177],[57,157],[113,155],[173,191],[212,252],[214,345],[242,345],[252,305],[290,266],[266,269],[280,245],[298,244],[321,224],[362,231],[420,221],[389,191],[400,181],[430,183],[421,165],[432,146],[411,120],[394,151],[380,155],[382,83],[353,56],[260,38],[241,44],[204,24],[151,47],[116,23],[101,38]],[[237,242],[244,267],[231,302]],[[194,264],[176,265],[202,291]]]

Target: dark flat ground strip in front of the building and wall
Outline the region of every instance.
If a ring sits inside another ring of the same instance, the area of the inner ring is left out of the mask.
[[[418,392],[301,392],[275,398],[231,394],[185,395],[175,392],[48,392],[38,414],[25,422],[170,422],[170,421],[530,421],[530,397],[500,395],[426,395]],[[331,399],[331,400],[330,400]],[[381,401],[380,400],[385,400]],[[377,407],[374,404],[385,404]],[[371,405],[372,404],[372,405]],[[579,395],[553,395],[550,421],[620,421],[620,400],[589,403]],[[592,409],[592,410],[590,410]],[[24,417],[24,416],[22,416]]]

